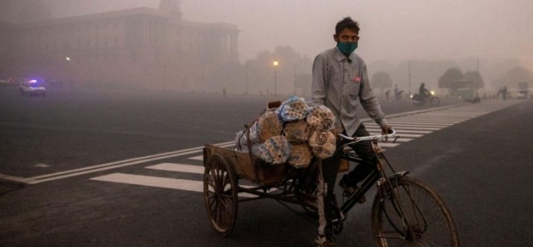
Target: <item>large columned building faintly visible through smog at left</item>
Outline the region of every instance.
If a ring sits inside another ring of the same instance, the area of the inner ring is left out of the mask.
[[[41,18],[2,19],[0,76],[79,87],[220,92],[217,73],[239,65],[237,26],[187,22],[179,0],[161,0],[158,9]]]

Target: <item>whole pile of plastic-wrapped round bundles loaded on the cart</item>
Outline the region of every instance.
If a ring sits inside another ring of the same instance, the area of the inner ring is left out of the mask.
[[[270,164],[307,167],[314,156],[325,159],[335,153],[334,122],[329,108],[310,108],[305,99],[293,96],[237,133],[237,151],[248,152],[251,146],[253,155]]]

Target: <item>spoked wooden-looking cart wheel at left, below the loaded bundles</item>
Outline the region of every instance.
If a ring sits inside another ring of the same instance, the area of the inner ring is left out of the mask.
[[[203,201],[214,230],[230,235],[237,219],[237,180],[220,155],[212,155],[205,164]]]

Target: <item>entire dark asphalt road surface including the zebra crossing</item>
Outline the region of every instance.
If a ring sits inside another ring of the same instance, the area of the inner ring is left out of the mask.
[[[0,110],[0,173],[4,181],[11,178],[25,186],[0,197],[0,245],[310,246],[314,220],[273,201],[239,205],[235,232],[228,239],[219,237],[206,219],[198,192],[201,153],[195,147],[205,142],[230,146],[235,121],[255,117],[267,97],[130,95],[58,92],[46,99],[2,97],[3,105],[12,105]],[[532,101],[455,103],[421,109],[408,102],[384,102],[389,120],[402,135],[398,143],[384,144],[387,156],[398,169],[408,169],[439,189],[454,213],[464,246],[530,246],[533,156],[527,151],[533,142],[532,130],[525,126],[533,119]],[[13,108],[20,105],[21,117],[13,117]],[[159,108],[164,110],[153,112]],[[80,109],[90,109],[89,116]],[[231,115],[235,111],[243,114]],[[194,124],[194,117],[221,112],[224,117]],[[132,122],[139,116],[144,120]],[[373,124],[367,126],[377,131]],[[59,145],[72,137],[76,140]],[[47,155],[50,162],[38,159]],[[369,206],[350,212],[339,236],[343,246],[371,246]]]

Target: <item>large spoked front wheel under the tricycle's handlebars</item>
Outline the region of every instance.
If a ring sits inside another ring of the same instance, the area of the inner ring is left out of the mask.
[[[459,246],[452,214],[432,187],[406,176],[391,183],[372,206],[378,246]]]

